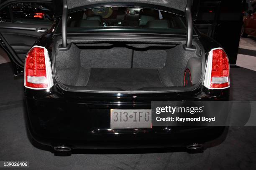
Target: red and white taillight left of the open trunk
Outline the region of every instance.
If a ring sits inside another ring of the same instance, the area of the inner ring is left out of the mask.
[[[24,85],[32,89],[49,89],[53,86],[51,65],[46,48],[34,46],[25,60]]]

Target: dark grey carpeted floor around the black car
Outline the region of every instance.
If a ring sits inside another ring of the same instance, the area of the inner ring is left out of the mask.
[[[151,149],[84,150],[67,157],[55,156],[28,140],[23,77],[13,77],[10,63],[0,65],[0,75],[0,161],[29,161],[31,170],[256,169],[256,127],[230,127],[225,140],[208,143],[212,147],[199,154]],[[255,85],[256,72],[231,68],[233,100],[256,100]]]

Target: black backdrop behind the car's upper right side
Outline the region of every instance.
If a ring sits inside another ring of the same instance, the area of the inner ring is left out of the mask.
[[[246,12],[246,0],[194,0],[192,16],[197,28],[220,43],[230,65],[236,64]]]

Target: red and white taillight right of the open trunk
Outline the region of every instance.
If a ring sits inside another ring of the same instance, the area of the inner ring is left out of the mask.
[[[209,52],[205,72],[205,87],[209,89],[224,89],[230,87],[228,56],[222,48]]]

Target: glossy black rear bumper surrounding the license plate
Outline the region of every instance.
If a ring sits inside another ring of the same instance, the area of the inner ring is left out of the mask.
[[[227,89],[214,92],[200,88],[195,92],[148,96],[65,92],[55,86],[48,91],[26,89],[28,128],[41,144],[71,148],[158,148],[205,143],[217,138],[223,127],[110,130],[110,109],[148,109],[151,100],[228,100],[229,94]]]

